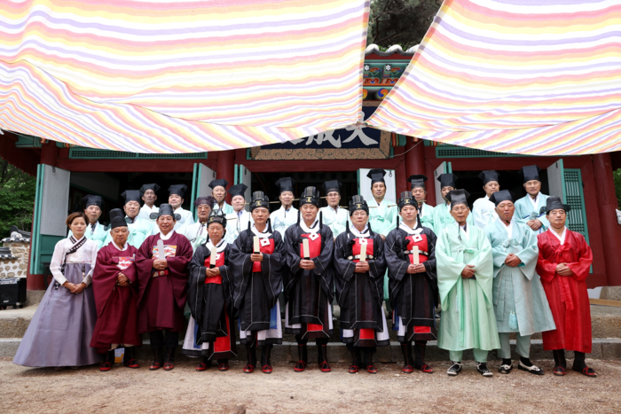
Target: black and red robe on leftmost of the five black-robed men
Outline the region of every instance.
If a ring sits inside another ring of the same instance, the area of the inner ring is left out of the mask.
[[[216,256],[220,275],[207,277],[211,251],[203,244],[196,248],[188,265],[187,303],[194,318],[194,348],[182,349],[184,355],[228,359],[237,355],[232,307],[232,274],[229,266],[232,245],[226,245]],[[201,344],[208,342],[208,349]]]

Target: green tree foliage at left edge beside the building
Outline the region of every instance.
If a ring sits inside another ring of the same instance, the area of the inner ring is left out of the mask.
[[[9,237],[13,225],[30,231],[35,191],[36,177],[0,159],[0,238]]]

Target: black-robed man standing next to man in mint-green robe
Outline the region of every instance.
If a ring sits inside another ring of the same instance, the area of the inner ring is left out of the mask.
[[[389,232],[384,249],[393,330],[398,332],[404,355],[403,371],[410,374],[417,369],[430,374],[433,370],[425,363],[425,347],[428,340],[437,340],[436,235],[419,222],[412,192],[401,193],[398,208],[402,222]]]

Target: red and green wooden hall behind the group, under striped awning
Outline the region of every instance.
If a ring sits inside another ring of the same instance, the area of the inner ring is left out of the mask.
[[[401,51],[398,46],[385,52],[367,49],[365,117],[386,97],[412,55],[412,51]],[[612,176],[613,167],[621,166],[616,154],[519,156],[435,145],[352,125],[282,145],[166,155],[70,147],[4,131],[0,156],[38,177],[28,289],[43,288],[45,264],[50,262],[55,243],[67,234],[65,217],[69,211],[82,208],[81,199],[87,193],[99,194],[106,200],[100,220],[104,223],[111,208],[121,207],[120,194],[124,190],[138,189],[145,183],[160,184],[159,204],[168,199],[166,189],[170,184],[187,184],[192,195],[185,198],[185,207],[190,208],[198,194],[208,194],[207,185],[216,176],[230,184],[248,184],[252,191],[266,191],[270,199],[277,199],[274,183],[280,176],[293,176],[298,193],[307,185],[338,179],[344,184],[344,205],[354,193],[368,191],[366,169],[384,168],[388,170],[389,199],[409,190],[408,176],[424,174],[429,177],[428,204],[436,205],[439,189],[434,176],[453,172],[460,176],[458,186],[471,193],[472,203],[484,196],[483,183],[477,178],[481,170],[499,170],[501,188],[523,196],[517,171],[532,164],[546,170],[542,192],[553,191],[565,198],[572,208],[570,229],[584,234],[593,247],[589,287],[621,285],[621,226],[615,213],[617,197]]]

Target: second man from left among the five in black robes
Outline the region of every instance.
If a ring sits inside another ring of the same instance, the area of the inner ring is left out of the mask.
[[[255,371],[256,346],[263,346],[261,368],[271,374],[271,348],[282,343],[279,293],[285,245],[278,231],[271,230],[270,199],[255,191],[250,203],[253,223],[240,232],[231,249],[233,306],[240,312],[240,344],[246,346],[244,372]]]

